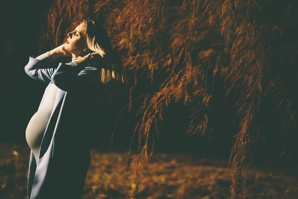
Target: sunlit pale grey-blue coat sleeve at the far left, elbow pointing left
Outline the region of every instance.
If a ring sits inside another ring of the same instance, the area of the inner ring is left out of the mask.
[[[47,84],[51,82],[52,75],[56,68],[54,63],[35,59],[37,56],[30,56],[29,62],[25,66],[25,72],[34,80],[42,81]]]

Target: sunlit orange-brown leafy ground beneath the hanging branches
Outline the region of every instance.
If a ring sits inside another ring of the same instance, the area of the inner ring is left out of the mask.
[[[29,154],[27,145],[0,144],[1,199],[27,199]],[[131,199],[134,184],[125,175],[127,156],[127,152],[99,153],[92,149],[82,199]],[[132,168],[128,177],[131,174]],[[245,199],[298,199],[297,177],[295,168],[252,169]],[[139,199],[228,199],[230,185],[226,160],[153,153]]]

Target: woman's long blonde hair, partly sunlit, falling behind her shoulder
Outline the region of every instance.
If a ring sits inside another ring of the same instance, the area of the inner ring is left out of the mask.
[[[105,61],[105,65],[101,69],[101,82],[106,84],[111,80],[116,80],[125,83],[123,65],[119,56],[112,49],[112,44],[104,27],[100,24],[95,25],[93,20],[83,19],[83,22],[86,24],[85,43],[87,48],[97,52]]]

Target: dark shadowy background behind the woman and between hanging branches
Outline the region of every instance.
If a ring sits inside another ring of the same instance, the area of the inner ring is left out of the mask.
[[[24,66],[30,55],[39,55],[38,32],[46,20],[44,13],[50,8],[52,2],[53,0],[5,1],[5,4],[1,5],[1,143],[26,144],[26,126],[37,111],[47,86],[27,76]],[[149,82],[145,79],[143,82],[139,81],[139,87],[135,90],[134,96],[137,97],[152,91],[156,85],[150,86]],[[214,89],[222,90],[221,85],[219,80]],[[215,94],[219,93],[215,92]],[[155,139],[154,153],[193,153],[229,158],[230,149],[233,146],[232,136],[237,132],[238,126],[232,123],[233,113],[229,114],[224,110],[222,96],[213,98],[218,102],[212,107],[212,113],[209,115],[213,126],[210,138],[209,134],[190,137],[183,135],[187,129],[188,117],[191,112],[183,106],[182,102],[178,102],[165,108],[164,121],[159,124],[159,138]],[[112,151],[129,150],[133,131],[139,118],[136,113],[143,99],[140,98],[134,102],[132,112],[129,113],[126,108],[120,115]],[[268,105],[267,108],[271,108],[271,106]],[[274,116],[270,120],[267,119],[266,121],[270,121],[268,126],[274,128],[275,119],[279,121],[279,118],[274,118]],[[113,122],[110,121],[110,124],[112,125]],[[152,132],[152,135],[156,138],[156,133]],[[103,152],[107,151],[110,131],[103,130],[100,136],[96,147]],[[263,150],[259,153],[261,161],[267,160],[271,156],[279,157],[281,154],[282,139],[279,136],[273,139],[276,140],[273,142],[276,146],[259,146]],[[133,147],[135,149],[138,147],[138,134],[135,135]],[[256,150],[260,148],[256,148]],[[289,159],[288,157],[284,158]]]

